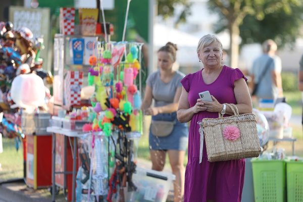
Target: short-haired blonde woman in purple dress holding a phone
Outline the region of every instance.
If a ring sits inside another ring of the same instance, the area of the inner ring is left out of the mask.
[[[241,201],[245,161],[208,162],[205,140],[200,153],[198,121],[218,118],[218,113],[232,115],[232,110],[223,103],[235,104],[239,114],[252,112],[246,78],[239,69],[221,65],[222,51],[222,43],[216,36],[203,36],[198,43],[197,55],[204,68],[181,80],[183,88],[177,117],[180,122],[191,121],[184,187],[186,202]],[[199,99],[198,93],[206,90],[210,91],[212,102]]]

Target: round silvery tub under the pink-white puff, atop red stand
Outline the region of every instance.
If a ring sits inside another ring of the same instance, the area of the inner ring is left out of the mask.
[[[21,128],[24,134],[48,134],[46,128],[49,126],[51,114],[49,113],[35,113],[21,115]]]

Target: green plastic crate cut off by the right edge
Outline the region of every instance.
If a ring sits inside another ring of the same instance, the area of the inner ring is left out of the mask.
[[[286,162],[287,201],[303,201],[303,161]]]

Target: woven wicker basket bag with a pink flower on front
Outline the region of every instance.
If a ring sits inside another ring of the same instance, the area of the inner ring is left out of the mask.
[[[258,157],[261,147],[256,116],[254,114],[239,115],[234,104],[225,105],[232,109],[233,116],[222,117],[219,113],[217,119],[205,118],[199,122],[201,138],[203,138],[203,134],[205,137],[208,161]]]

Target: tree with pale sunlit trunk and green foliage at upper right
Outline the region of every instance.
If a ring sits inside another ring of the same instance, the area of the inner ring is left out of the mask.
[[[245,26],[248,28],[244,29],[244,31],[240,31],[240,26],[243,25],[245,18],[247,21],[251,21],[251,19],[249,19],[247,16],[254,17],[259,21],[264,20],[265,22],[265,18],[269,16],[277,16],[277,13],[284,13],[290,17],[293,15],[294,11],[299,13],[303,12],[303,10],[295,9],[296,7],[301,8],[301,0],[209,0],[208,4],[210,9],[217,12],[220,16],[220,20],[215,26],[216,33],[219,33],[224,29],[227,29],[230,33],[229,54],[231,55],[232,66],[237,66],[239,50],[238,38],[241,33],[246,33],[247,35],[250,34],[249,36],[251,40],[255,40],[252,39],[253,37],[251,37],[252,33],[262,35],[264,33],[263,29],[269,28],[266,26],[260,27],[257,24],[249,24],[249,22],[245,22]],[[266,22],[270,22],[270,19],[266,19]],[[273,26],[275,26],[275,24],[272,24],[271,28],[273,28]],[[276,24],[276,26],[279,26],[279,23]],[[299,29],[299,27],[296,28]],[[247,31],[249,29],[254,30],[255,32]],[[270,29],[268,30],[269,33],[274,31]],[[278,31],[278,29],[276,30]],[[287,31],[289,30],[284,30],[284,34]],[[296,33],[295,31],[293,32]],[[284,37],[283,33],[278,33],[277,35],[279,35],[280,38]],[[243,41],[245,41],[245,39]]]

